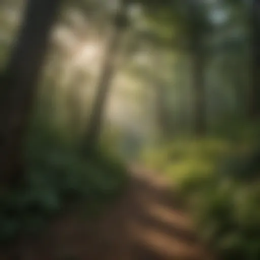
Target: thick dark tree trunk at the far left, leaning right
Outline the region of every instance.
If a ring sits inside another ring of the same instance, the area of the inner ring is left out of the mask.
[[[28,0],[18,39],[1,79],[1,181],[16,182],[23,173],[23,138],[48,36],[60,0]]]

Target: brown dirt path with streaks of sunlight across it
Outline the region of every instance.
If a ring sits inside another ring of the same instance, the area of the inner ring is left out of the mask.
[[[133,168],[129,190],[93,223],[73,211],[0,260],[211,260],[167,181]]]

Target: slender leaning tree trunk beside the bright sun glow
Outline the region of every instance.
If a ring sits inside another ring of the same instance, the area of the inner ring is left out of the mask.
[[[104,66],[98,83],[98,93],[94,100],[92,113],[89,119],[89,126],[83,143],[83,150],[94,148],[99,141],[102,129],[103,116],[106,108],[106,101],[110,91],[112,79],[115,72],[116,54],[121,43],[121,36],[126,26],[126,0],[122,0],[121,6],[115,17],[115,28],[108,44]]]

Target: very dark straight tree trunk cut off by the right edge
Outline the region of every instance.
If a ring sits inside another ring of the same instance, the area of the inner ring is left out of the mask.
[[[249,118],[260,118],[260,1],[253,0],[251,14],[252,81]]]

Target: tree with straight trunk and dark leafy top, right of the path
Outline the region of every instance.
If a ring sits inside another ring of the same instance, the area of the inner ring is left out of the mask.
[[[190,54],[194,133],[202,136],[206,133],[207,128],[204,82],[206,46],[204,40],[211,29],[206,5],[203,1],[195,0],[165,0],[152,4],[147,8],[152,19],[157,20],[162,29],[167,26],[175,32],[169,38],[172,48]]]

